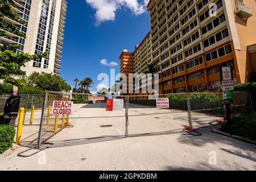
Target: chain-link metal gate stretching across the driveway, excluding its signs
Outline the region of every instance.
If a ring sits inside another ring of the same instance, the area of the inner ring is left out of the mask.
[[[158,96],[104,96],[88,101],[92,94],[47,92],[42,110],[38,140],[32,147],[69,146],[125,137],[182,133],[217,125],[224,119],[222,93],[180,93]],[[156,108],[156,98],[169,98],[169,107]],[[123,100],[123,109],[106,111],[108,98]],[[233,116],[252,111],[247,92],[235,92]],[[51,114],[53,101],[73,101],[70,115]],[[36,146],[35,146],[36,145]]]

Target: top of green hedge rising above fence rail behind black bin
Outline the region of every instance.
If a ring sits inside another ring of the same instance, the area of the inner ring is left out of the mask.
[[[13,93],[13,85],[11,84],[0,84],[0,94],[12,94]],[[20,86],[18,88],[19,94],[44,94],[44,90],[34,88],[34,86]]]

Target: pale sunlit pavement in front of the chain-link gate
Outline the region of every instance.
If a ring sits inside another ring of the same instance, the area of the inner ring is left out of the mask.
[[[256,170],[256,146],[240,140],[198,130],[189,134],[131,137],[106,142],[48,148],[42,155],[18,157],[18,147],[0,156],[0,170]],[[209,152],[217,164],[209,164]]]

